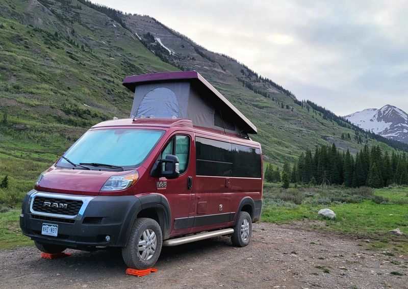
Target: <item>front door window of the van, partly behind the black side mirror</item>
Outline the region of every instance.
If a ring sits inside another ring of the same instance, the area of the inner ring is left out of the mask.
[[[167,146],[164,148],[162,152],[162,159],[165,159],[166,155],[168,154],[177,156],[179,158],[180,174],[182,174],[187,170],[189,151],[190,138],[188,136],[176,135],[171,138]]]

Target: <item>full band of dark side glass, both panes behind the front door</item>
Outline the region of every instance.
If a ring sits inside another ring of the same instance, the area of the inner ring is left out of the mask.
[[[261,177],[261,150],[197,137],[196,174],[202,176]]]

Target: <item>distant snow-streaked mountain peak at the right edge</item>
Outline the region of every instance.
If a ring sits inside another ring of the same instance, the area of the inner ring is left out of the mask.
[[[355,112],[344,118],[374,134],[408,143],[408,114],[390,104],[380,109]]]

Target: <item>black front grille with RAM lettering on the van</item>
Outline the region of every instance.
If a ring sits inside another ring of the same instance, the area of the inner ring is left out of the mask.
[[[44,205],[50,203],[50,206]],[[64,206],[66,204],[66,207]],[[59,199],[59,198],[47,198],[36,196],[33,203],[33,211],[58,214],[66,216],[75,216],[81,209],[83,202],[81,200]]]

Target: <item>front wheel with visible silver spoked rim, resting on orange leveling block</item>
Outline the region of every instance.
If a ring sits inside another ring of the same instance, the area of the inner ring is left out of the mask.
[[[152,232],[154,232],[156,239],[154,236],[152,237]],[[145,241],[146,245],[141,245],[141,250],[139,250],[139,242],[143,243],[143,241]],[[122,248],[123,261],[130,268],[139,270],[151,268],[156,264],[160,256],[162,244],[162,230],[155,220],[149,218],[136,219],[132,226],[129,240],[127,240],[126,246]]]

